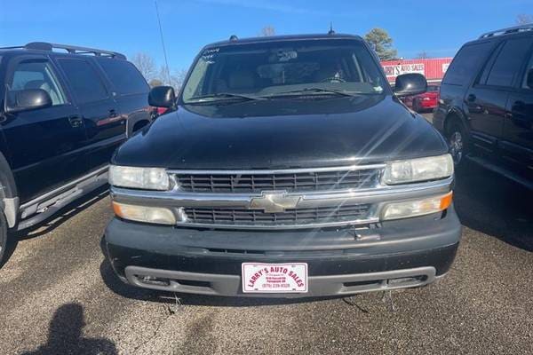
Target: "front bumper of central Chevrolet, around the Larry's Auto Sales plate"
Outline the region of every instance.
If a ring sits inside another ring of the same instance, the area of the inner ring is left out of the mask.
[[[124,282],[214,296],[335,296],[410,288],[448,272],[461,226],[455,210],[371,229],[199,230],[113,219],[107,253]],[[305,294],[243,294],[241,264],[307,263]],[[155,282],[146,281],[150,277]]]

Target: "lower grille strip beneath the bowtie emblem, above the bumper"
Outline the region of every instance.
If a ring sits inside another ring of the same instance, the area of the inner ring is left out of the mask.
[[[203,225],[316,225],[349,223],[369,217],[370,204],[286,209],[267,213],[259,209],[186,208],[187,223]]]

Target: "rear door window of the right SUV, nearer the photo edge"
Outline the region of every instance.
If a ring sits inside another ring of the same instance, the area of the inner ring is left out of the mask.
[[[494,64],[485,68],[485,71],[489,70],[489,75],[482,75],[481,78],[487,77],[487,85],[513,86],[514,77],[526,59],[529,44],[529,38],[510,39],[505,42],[502,50],[497,54]]]

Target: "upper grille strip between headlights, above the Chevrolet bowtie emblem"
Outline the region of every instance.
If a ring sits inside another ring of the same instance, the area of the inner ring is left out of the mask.
[[[176,173],[179,190],[192,193],[312,192],[372,188],[380,169],[332,170],[273,174]]]

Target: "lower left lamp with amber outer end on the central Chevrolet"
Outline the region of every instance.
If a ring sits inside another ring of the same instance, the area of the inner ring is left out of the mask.
[[[131,221],[176,225],[176,217],[170,209],[161,207],[136,206],[113,201],[115,215]]]

